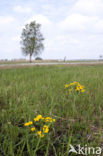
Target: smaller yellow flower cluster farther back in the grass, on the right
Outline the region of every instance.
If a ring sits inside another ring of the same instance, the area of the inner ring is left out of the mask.
[[[80,85],[79,82],[72,82],[70,84],[66,84],[65,88],[69,89],[69,92],[71,93],[73,90],[75,90],[76,92],[85,92],[84,86]]]

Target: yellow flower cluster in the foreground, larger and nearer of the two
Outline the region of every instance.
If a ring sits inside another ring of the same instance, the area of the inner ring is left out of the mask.
[[[51,123],[54,123],[55,119],[52,117],[43,117],[42,115],[37,115],[34,121],[29,121],[24,124],[24,126],[31,126],[31,131],[35,131],[36,135],[43,138],[46,133],[49,132]]]

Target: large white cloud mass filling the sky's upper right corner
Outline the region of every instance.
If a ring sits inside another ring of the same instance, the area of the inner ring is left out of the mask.
[[[103,33],[103,1],[78,0],[59,25],[68,33]]]

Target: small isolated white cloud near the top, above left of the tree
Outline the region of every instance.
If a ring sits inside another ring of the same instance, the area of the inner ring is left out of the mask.
[[[18,12],[18,13],[31,13],[32,8],[31,7],[24,7],[24,6],[22,7],[22,6],[18,5],[18,6],[15,6],[13,8],[13,10],[15,12]]]

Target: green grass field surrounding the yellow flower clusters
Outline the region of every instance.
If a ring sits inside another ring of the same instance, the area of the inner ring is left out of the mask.
[[[84,93],[67,94],[74,81]],[[43,138],[24,126],[39,114],[55,119]],[[0,69],[1,156],[65,156],[70,144],[103,146],[103,66]]]

